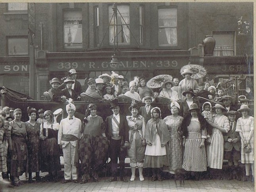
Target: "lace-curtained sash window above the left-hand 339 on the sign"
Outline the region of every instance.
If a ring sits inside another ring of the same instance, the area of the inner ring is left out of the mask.
[[[64,47],[82,48],[82,10],[64,12]]]

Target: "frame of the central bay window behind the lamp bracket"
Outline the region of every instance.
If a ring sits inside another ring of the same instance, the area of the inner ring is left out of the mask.
[[[129,23],[128,23],[128,27],[129,27],[129,29],[130,29],[130,4],[117,4],[117,9],[118,9],[118,6],[128,6],[128,10],[129,10]],[[107,10],[108,10],[108,17],[109,17],[109,19],[111,18],[110,17],[110,15],[109,15],[109,7],[111,7],[111,9],[112,9],[112,7],[113,7],[113,4],[111,4],[111,5],[108,5],[108,7],[107,7]],[[118,9],[119,10],[119,9]],[[111,15],[113,14],[113,11],[111,12]],[[122,14],[122,13],[121,13]],[[118,13],[118,11],[117,11],[117,15],[119,15],[119,13]],[[108,23],[110,22],[110,20],[108,19]],[[113,18],[114,19],[114,18]],[[126,22],[127,23],[127,22]],[[124,23],[124,24],[118,24],[117,23],[117,26],[126,26],[126,24]],[[113,24],[109,24],[109,26],[114,26]],[[108,30],[108,32],[110,32],[110,28],[109,28],[109,30]],[[120,33],[120,32],[118,32],[118,33]],[[109,36],[110,36],[110,34],[109,34]],[[129,38],[130,38],[130,41],[129,41],[129,43],[126,43],[126,42],[124,42],[124,43],[122,43],[121,41],[120,41],[120,39],[118,38],[118,45],[130,45],[131,44],[131,32],[130,32],[130,30],[129,30]],[[111,43],[110,42],[110,38],[109,38],[109,40],[108,40],[108,43],[109,43],[109,45],[114,45],[114,43]]]

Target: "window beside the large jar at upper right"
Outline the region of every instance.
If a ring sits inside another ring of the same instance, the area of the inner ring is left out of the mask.
[[[235,55],[235,32],[234,31],[213,31],[215,39],[214,56]]]

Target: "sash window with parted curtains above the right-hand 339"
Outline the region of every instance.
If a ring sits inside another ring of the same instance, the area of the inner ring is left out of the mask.
[[[158,9],[159,46],[177,46],[177,9]]]

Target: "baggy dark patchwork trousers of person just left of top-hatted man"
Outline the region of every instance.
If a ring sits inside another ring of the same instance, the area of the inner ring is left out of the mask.
[[[81,161],[82,179],[97,179],[98,169],[107,161],[109,142],[107,137],[85,134],[79,141],[78,154]]]

